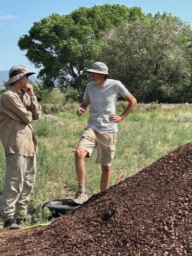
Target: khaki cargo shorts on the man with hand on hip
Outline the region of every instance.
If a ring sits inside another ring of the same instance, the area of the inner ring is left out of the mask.
[[[77,148],[84,148],[88,152],[86,157],[91,157],[95,147],[97,147],[96,163],[111,166],[112,159],[115,155],[115,144],[117,133],[102,133],[91,128],[84,129]]]

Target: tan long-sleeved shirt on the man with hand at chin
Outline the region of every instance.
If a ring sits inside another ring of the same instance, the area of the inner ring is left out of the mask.
[[[37,152],[37,141],[30,124],[40,117],[41,106],[36,97],[31,99],[24,91],[10,86],[0,100],[0,139],[5,156],[20,154],[33,156]]]

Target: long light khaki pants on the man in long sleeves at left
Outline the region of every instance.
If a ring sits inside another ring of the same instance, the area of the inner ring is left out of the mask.
[[[3,221],[27,214],[27,204],[36,175],[36,155],[26,157],[9,154],[6,157],[6,174],[1,199]]]

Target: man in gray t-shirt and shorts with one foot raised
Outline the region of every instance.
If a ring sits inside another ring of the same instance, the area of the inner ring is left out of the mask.
[[[90,105],[88,125],[75,151],[78,191],[72,204],[79,205],[88,200],[84,184],[86,173],[84,158],[90,157],[97,146],[96,163],[101,164],[102,170],[100,190],[108,188],[118,133],[117,122],[121,122],[137,103],[120,81],[107,78],[108,67],[104,63],[93,63],[92,69],[87,72],[90,73],[92,81],[87,84],[83,101],[77,110],[77,115],[82,116]],[[123,97],[129,104],[123,113],[117,116],[115,111],[119,97]]]

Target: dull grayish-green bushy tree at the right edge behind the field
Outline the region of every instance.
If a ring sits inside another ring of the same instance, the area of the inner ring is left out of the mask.
[[[139,102],[191,102],[191,39],[189,24],[157,13],[108,31],[100,58]]]

